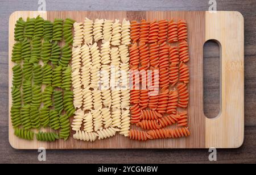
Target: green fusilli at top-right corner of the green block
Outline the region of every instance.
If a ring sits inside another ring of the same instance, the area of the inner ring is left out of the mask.
[[[67,18],[63,25],[63,37],[66,44],[72,44],[73,43],[73,32],[72,27],[75,23],[75,20]]]

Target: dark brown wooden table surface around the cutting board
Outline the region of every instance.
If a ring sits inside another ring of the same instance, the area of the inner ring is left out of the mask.
[[[14,11],[38,10],[38,1],[0,0],[0,163],[40,163],[38,152],[11,148],[8,140],[8,23]],[[46,10],[200,10],[208,0],[79,0],[47,1]],[[256,163],[256,1],[218,0],[217,10],[240,11],[245,18],[245,141],[238,149],[218,149],[216,163]],[[219,106],[219,60],[216,44],[205,44],[205,114]],[[234,94],[235,95],[235,94]],[[46,163],[210,163],[207,149],[47,151]]]

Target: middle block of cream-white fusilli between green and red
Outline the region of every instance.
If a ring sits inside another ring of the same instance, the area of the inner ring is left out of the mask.
[[[117,131],[120,131],[121,135],[128,136],[129,78],[122,79],[120,72],[124,72],[125,76],[129,77],[127,45],[131,41],[130,22],[125,19],[122,24],[119,20],[113,22],[113,20],[96,19],[93,22],[86,18],[84,23],[75,23],[74,29],[72,84],[74,106],[77,110],[72,123],[72,130],[76,131],[73,138],[95,141],[97,138],[99,140],[110,138]],[[101,48],[96,43],[99,40],[102,40]],[[111,45],[118,47],[111,48]],[[116,87],[126,85],[126,89],[110,90],[111,76],[115,76]],[[82,125],[83,130],[81,130]]]

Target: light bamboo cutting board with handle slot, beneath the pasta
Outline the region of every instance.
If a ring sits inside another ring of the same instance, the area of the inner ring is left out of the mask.
[[[188,23],[189,44],[189,130],[191,136],[182,139],[129,140],[121,135],[114,138],[87,143],[74,140],[59,140],[55,143],[26,141],[14,136],[11,125],[11,51],[14,44],[16,20],[28,16],[42,16],[53,21],[55,18],[72,18],[83,22],[90,19],[185,19]],[[205,41],[216,40],[221,48],[221,99],[220,114],[208,119],[203,113],[203,46]],[[244,28],[243,16],[235,11],[16,11],[9,20],[9,141],[15,149],[125,149],[125,148],[238,148],[244,137]]]

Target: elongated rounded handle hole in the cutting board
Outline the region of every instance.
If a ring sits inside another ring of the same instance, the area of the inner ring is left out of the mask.
[[[217,118],[221,113],[221,44],[216,40],[208,40],[204,44],[203,59],[204,82],[204,115]]]

